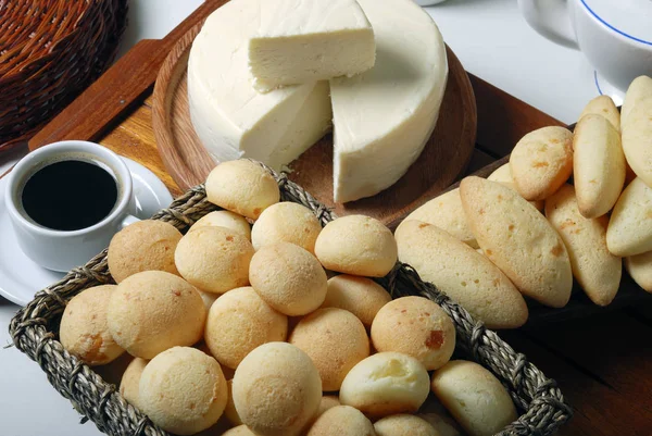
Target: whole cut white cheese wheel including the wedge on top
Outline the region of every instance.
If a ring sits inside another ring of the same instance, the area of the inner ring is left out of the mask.
[[[217,162],[275,170],[334,129],[334,199],[393,185],[419,157],[446,90],[446,46],[413,0],[231,0],[188,60],[195,130]]]

